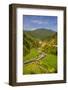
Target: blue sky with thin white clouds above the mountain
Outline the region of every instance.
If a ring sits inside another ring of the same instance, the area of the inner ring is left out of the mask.
[[[43,28],[57,32],[57,16],[23,15],[24,30]]]

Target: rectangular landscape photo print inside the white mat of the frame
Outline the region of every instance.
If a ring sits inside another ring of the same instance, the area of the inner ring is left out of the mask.
[[[23,74],[57,73],[57,17],[23,16]]]

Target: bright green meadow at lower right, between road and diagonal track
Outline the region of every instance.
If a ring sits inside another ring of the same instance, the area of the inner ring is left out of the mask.
[[[40,64],[47,68],[49,72],[57,72],[57,56],[53,54],[48,54],[44,57]]]

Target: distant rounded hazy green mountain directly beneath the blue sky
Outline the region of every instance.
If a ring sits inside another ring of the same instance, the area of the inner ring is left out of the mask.
[[[40,39],[40,40],[46,40],[49,37],[51,37],[55,32],[49,29],[35,29],[33,31],[24,31],[28,35],[32,36],[35,39]]]

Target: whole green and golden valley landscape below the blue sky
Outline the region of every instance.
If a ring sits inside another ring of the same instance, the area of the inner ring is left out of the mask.
[[[57,73],[57,33],[42,30],[39,34],[39,31],[24,32],[24,75]]]

